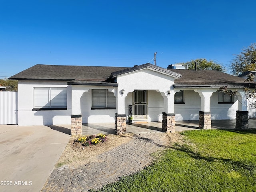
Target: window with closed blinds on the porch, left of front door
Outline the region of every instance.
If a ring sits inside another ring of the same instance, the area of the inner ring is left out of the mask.
[[[114,93],[106,89],[93,89],[92,108],[116,108]]]

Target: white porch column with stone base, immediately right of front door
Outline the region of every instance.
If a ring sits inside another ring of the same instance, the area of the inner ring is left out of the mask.
[[[164,111],[162,121],[162,132],[175,132],[175,113],[174,113],[174,90],[168,94],[168,92],[161,93],[164,98]]]

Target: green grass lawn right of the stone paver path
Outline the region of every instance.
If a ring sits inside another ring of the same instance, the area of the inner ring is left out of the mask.
[[[180,133],[157,162],[104,192],[256,192],[256,130]],[[94,190],[92,190],[94,191]]]

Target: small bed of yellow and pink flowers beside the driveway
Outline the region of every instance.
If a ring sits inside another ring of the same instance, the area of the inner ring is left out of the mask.
[[[82,143],[82,146],[96,145],[100,142],[106,141],[106,135],[99,133],[90,136],[81,136],[75,140],[75,142]]]

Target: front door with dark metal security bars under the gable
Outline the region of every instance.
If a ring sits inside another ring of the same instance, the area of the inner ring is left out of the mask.
[[[134,90],[133,92],[133,115],[134,120],[147,120],[147,91]]]

